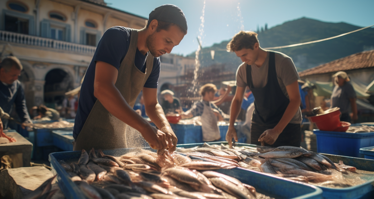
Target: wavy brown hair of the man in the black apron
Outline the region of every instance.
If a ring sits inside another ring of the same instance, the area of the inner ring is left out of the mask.
[[[238,50],[252,49],[258,43],[257,33],[252,31],[240,31],[234,35],[233,39],[227,44],[226,48],[228,52],[234,52]]]

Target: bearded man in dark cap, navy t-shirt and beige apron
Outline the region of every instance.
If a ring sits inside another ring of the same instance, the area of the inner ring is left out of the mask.
[[[153,149],[175,150],[177,137],[157,102],[158,57],[186,34],[186,18],[171,4],[154,9],[141,30],[116,26],[105,31],[81,87],[74,150],[127,148],[128,125]],[[141,90],[145,111],[159,130],[132,109]]]

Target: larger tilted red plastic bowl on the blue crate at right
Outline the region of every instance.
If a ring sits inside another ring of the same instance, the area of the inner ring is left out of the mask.
[[[320,131],[334,131],[340,124],[340,111],[339,108],[332,112],[329,110],[327,113],[310,117],[312,122],[315,122]]]

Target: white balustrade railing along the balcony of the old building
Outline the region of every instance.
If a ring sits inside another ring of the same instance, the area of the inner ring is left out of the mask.
[[[47,47],[56,50],[64,50],[69,53],[82,53],[90,54],[95,53],[96,47],[87,46],[82,44],[70,43],[66,41],[53,40],[50,38],[36,37],[32,35],[19,34],[16,32],[8,32],[0,30],[0,41],[30,45],[30,46],[40,46]]]

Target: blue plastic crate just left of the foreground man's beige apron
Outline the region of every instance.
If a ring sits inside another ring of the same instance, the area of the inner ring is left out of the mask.
[[[72,130],[54,130],[52,131],[53,145],[64,150],[73,150],[73,131]]]

